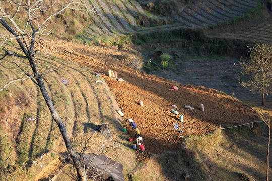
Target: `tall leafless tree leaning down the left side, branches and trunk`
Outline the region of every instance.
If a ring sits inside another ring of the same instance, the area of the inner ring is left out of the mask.
[[[62,119],[58,116],[47,93],[43,82],[44,73],[39,71],[39,60],[36,56],[36,49],[39,45],[38,37],[40,35],[49,34],[51,32],[51,30],[48,29],[50,20],[66,9],[93,11],[91,6],[86,5],[86,2],[83,0],[1,0],[0,23],[6,31],[2,30],[0,33],[0,36],[4,38],[0,47],[9,40],[17,41],[20,49],[25,54],[25,60],[27,60],[30,65],[30,71],[24,69],[19,64],[16,64],[16,62],[13,63],[24,72],[27,78],[31,78],[31,80],[39,86],[50,113],[61,132],[66,149],[73,159],[73,163],[77,170],[78,180],[86,180],[84,163],[73,148]],[[13,80],[10,80],[10,82],[11,81]]]

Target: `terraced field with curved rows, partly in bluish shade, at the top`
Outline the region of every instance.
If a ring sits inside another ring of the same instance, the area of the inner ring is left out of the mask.
[[[161,17],[146,12],[135,1],[126,0],[94,0],[91,1],[96,13],[91,14],[90,23],[81,38],[85,40],[105,38],[115,34],[149,33],[154,31],[169,31],[179,28],[205,28],[230,22],[244,17],[249,12],[260,8],[260,0],[209,0],[194,1],[173,17]],[[141,27],[137,24],[140,16],[146,16],[158,21],[171,20],[171,24],[151,27]]]

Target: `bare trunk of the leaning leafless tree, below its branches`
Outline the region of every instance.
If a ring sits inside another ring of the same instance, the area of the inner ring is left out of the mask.
[[[78,179],[80,181],[86,181],[86,173],[85,173],[85,169],[84,169],[84,163],[81,161],[81,159],[79,158],[79,155],[78,153],[75,151],[75,149],[73,148],[73,146],[71,145],[71,141],[70,141],[70,138],[69,138],[69,135],[67,134],[67,131],[66,131],[66,128],[63,124],[63,121],[61,120],[61,118],[58,116],[57,112],[56,112],[56,109],[47,93],[47,90],[44,86],[44,82],[42,80],[42,77],[39,75],[37,78],[36,78],[37,82],[38,82],[38,85],[39,85],[39,88],[41,90],[41,93],[42,93],[42,96],[51,112],[51,115],[54,119],[54,121],[56,122],[58,128],[59,128],[59,131],[61,132],[61,135],[62,135],[62,138],[65,142],[65,145],[66,145],[66,148],[69,152],[69,155],[72,157],[73,159],[73,162],[75,164],[75,167],[77,169],[77,173],[78,173]]]

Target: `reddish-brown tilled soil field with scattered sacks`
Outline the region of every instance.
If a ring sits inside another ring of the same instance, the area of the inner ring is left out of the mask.
[[[232,97],[220,95],[215,89],[180,84],[146,73],[138,74],[133,65],[129,66],[118,59],[124,54],[139,55],[137,52],[118,50],[116,47],[90,47],[60,40],[47,43],[50,45],[47,51],[53,55],[106,74],[102,77],[124,113],[123,124],[128,134],[134,137],[135,132],[129,128],[127,119],[133,119],[141,131],[146,146],[145,154],[139,154],[141,160],[150,154],[177,149],[178,143],[182,142],[180,136],[204,135],[213,132],[216,126],[258,120],[249,107]],[[125,82],[109,78],[109,69],[118,72],[118,77]],[[176,85],[178,90],[170,91],[172,85]],[[138,104],[139,100],[144,102],[143,107]],[[200,110],[200,104],[205,106],[204,112]],[[179,115],[167,113],[174,109],[172,105],[177,106]],[[186,110],[185,105],[195,109]],[[184,115],[183,123],[178,121],[180,114]],[[173,128],[175,123],[179,124],[183,133]]]

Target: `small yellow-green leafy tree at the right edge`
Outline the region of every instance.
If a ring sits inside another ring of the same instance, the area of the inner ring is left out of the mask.
[[[264,106],[264,95],[272,93],[272,45],[256,44],[249,48],[249,60],[241,60],[242,74],[249,75],[249,79],[241,85],[262,96],[261,105]]]

